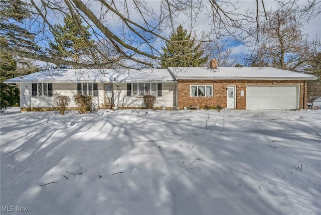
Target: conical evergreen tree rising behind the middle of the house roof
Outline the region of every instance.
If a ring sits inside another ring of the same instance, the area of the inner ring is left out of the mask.
[[[201,43],[196,43],[191,38],[191,33],[180,25],[176,32],[171,35],[170,41],[162,47],[164,54],[161,55],[161,66],[174,67],[198,67],[207,62],[208,56],[203,57],[204,51],[200,50]]]

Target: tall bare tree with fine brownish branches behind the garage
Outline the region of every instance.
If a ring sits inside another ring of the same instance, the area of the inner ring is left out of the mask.
[[[271,12],[259,29],[258,50],[252,65],[303,71],[310,59],[312,43],[303,33],[303,21],[291,8]]]

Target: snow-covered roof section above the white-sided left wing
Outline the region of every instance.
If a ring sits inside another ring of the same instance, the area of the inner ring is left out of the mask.
[[[49,69],[15,77],[6,83],[20,82],[173,82],[175,78],[168,69]]]

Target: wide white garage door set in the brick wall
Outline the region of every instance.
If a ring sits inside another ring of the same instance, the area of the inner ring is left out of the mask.
[[[298,95],[297,85],[246,86],[246,110],[298,109]]]

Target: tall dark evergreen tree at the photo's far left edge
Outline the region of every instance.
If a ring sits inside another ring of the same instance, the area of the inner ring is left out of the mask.
[[[24,51],[39,50],[34,42],[35,34],[23,28],[25,20],[30,18],[26,9],[29,5],[21,0],[0,1],[0,46],[8,49],[19,49]],[[25,59],[20,59],[24,63]],[[11,54],[0,53],[0,109],[5,111],[7,107],[19,103],[19,88],[3,83],[5,80],[17,77],[17,62]]]

